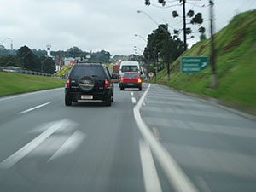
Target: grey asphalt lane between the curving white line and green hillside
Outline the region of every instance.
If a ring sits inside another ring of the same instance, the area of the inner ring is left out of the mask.
[[[141,113],[201,191],[256,191],[255,121],[152,84]]]

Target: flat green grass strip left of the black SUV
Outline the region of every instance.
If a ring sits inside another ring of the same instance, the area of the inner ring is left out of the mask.
[[[0,72],[0,96],[64,87],[65,79]]]

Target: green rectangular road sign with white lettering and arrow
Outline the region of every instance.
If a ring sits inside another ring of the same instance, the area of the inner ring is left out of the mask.
[[[208,66],[207,56],[183,56],[181,58],[182,73],[199,73]]]

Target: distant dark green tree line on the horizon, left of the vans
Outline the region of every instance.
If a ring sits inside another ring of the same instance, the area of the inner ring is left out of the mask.
[[[47,56],[46,50],[29,49],[23,46],[18,50],[8,50],[0,45],[0,67],[15,66],[24,70],[31,70],[42,73],[55,73],[55,56],[62,58],[73,57],[79,60],[90,62],[110,62],[110,53],[105,50],[85,52],[78,47],[67,49],[66,51],[51,51],[51,56]]]

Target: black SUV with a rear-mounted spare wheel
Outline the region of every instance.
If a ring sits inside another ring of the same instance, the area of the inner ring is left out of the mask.
[[[108,67],[100,63],[77,63],[67,76],[65,104],[79,100],[100,100],[107,106],[113,102],[113,83]]]

